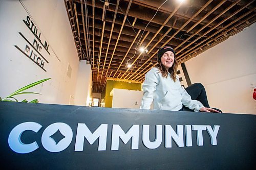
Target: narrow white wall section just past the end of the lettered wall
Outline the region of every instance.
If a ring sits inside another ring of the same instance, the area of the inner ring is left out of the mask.
[[[85,60],[80,61],[76,83],[74,105],[89,106],[92,93],[92,70],[91,65]]]

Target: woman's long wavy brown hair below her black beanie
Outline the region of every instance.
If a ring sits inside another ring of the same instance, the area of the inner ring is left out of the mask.
[[[178,68],[176,57],[174,58],[174,64],[168,70],[165,68],[165,66],[162,65],[161,60],[158,61],[157,67],[160,70],[163,77],[167,78],[168,72],[169,72],[170,78],[172,78],[173,81],[176,82],[177,68]]]

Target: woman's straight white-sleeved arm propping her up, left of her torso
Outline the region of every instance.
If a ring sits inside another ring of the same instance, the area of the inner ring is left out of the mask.
[[[145,75],[145,81],[142,85],[143,89],[143,98],[141,101],[140,109],[150,109],[150,106],[154,99],[154,91],[156,86],[159,83],[159,75],[156,68],[152,68]]]

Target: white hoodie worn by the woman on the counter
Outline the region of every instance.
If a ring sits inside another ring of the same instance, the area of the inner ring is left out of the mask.
[[[182,104],[191,110],[198,112],[203,104],[197,100],[191,100],[190,95],[181,86],[177,75],[176,82],[170,78],[170,74],[165,78],[160,70],[152,68],[145,75],[145,81],[142,86],[143,98],[140,109],[150,109],[154,100],[154,110],[173,110],[178,111]]]

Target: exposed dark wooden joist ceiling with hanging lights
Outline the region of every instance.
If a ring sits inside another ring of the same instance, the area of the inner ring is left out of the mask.
[[[255,22],[254,1],[65,0],[80,60],[92,67],[93,92],[106,80],[143,82],[158,49],[179,64]],[[159,8],[160,7],[160,8]]]

